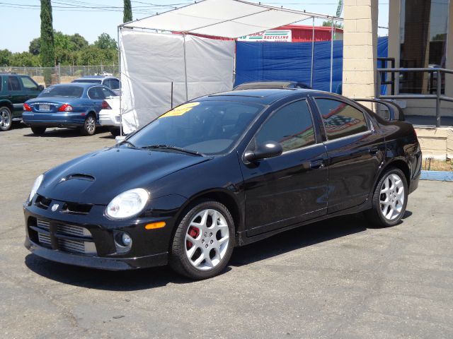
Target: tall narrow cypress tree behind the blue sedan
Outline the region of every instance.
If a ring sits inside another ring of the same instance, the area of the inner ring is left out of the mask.
[[[41,64],[45,67],[55,66],[54,30],[52,26],[52,4],[50,0],[41,0]],[[45,85],[50,85],[51,72],[44,74]]]

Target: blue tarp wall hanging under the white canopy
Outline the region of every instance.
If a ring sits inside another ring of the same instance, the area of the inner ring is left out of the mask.
[[[378,57],[387,56],[387,37],[379,37]],[[236,42],[234,85],[248,81],[291,80],[310,84],[311,42]],[[333,84],[343,78],[343,40],[333,42]],[[329,90],[331,42],[314,43],[313,88]]]

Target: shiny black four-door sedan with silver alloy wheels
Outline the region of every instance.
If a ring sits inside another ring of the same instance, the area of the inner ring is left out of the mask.
[[[234,246],[336,215],[400,222],[418,186],[411,124],[315,90],[242,90],[172,109],[36,179],[25,246],[79,266],[169,263],[210,278]]]

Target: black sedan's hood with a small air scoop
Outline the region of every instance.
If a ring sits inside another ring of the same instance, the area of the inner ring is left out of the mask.
[[[159,150],[107,148],[51,169],[38,193],[60,201],[107,205],[128,189],[147,189],[168,174],[209,159]]]

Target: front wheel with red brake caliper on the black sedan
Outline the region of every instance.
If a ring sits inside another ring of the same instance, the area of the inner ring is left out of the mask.
[[[217,201],[201,201],[180,221],[171,246],[170,266],[192,279],[224,270],[234,246],[234,221]]]

